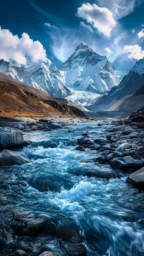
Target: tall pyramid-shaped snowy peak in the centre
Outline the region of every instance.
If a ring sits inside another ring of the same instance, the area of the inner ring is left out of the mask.
[[[120,81],[120,75],[107,57],[95,53],[84,42],[76,47],[60,70],[64,71],[67,87],[72,93],[68,99],[82,104],[92,103]]]

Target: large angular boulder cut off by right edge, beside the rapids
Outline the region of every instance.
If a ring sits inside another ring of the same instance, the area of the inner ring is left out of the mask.
[[[135,188],[144,189],[144,167],[137,170],[137,172],[133,172],[126,182],[132,184]]]

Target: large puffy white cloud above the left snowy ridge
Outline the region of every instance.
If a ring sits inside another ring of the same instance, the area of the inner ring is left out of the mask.
[[[26,64],[26,56],[37,62],[45,59],[46,51],[39,41],[33,41],[27,33],[23,33],[19,38],[9,29],[1,29],[0,26],[0,59],[13,59],[19,64]]]

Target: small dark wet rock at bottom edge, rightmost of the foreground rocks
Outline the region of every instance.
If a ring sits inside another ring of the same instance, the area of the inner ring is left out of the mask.
[[[87,250],[84,244],[66,243],[64,245],[64,248],[68,256],[86,256],[87,255]]]

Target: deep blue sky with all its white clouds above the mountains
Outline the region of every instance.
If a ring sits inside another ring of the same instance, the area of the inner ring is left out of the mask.
[[[84,41],[128,70],[144,56],[143,12],[144,0],[1,1],[0,58],[47,56],[59,67]]]

